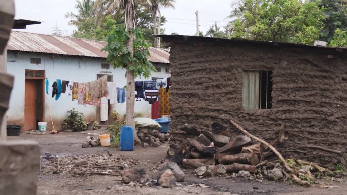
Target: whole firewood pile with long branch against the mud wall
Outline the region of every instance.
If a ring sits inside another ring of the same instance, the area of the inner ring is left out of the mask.
[[[210,131],[198,131],[195,126],[186,124],[182,131],[172,132],[168,159],[185,168],[194,168],[200,177],[239,173],[257,179],[291,180],[311,186],[316,175],[333,174],[318,164],[282,157],[275,147],[287,139],[284,124],[277,138],[268,143],[234,121],[230,122],[244,135],[230,135],[227,127],[217,122],[212,123]],[[271,161],[270,156],[277,156],[279,160]]]

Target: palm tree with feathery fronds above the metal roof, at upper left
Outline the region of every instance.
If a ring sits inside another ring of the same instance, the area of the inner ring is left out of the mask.
[[[83,21],[94,19],[94,1],[93,0],[76,0],[77,4],[75,8],[78,10],[78,14],[73,12],[67,13],[66,18],[71,18],[68,22],[70,25],[79,26]]]

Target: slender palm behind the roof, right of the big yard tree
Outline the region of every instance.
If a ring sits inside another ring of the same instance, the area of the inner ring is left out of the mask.
[[[160,8],[175,8],[175,6],[173,6],[174,3],[176,3],[175,0],[150,0],[150,4],[145,5],[152,10],[154,35],[157,34],[157,13],[160,12]],[[160,24],[158,27],[160,28]],[[155,38],[154,47],[157,46],[158,40]]]

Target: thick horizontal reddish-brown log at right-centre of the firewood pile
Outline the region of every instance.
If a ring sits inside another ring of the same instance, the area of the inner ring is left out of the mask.
[[[234,155],[226,155],[218,159],[220,164],[245,163],[257,165],[259,163],[258,155],[254,153],[238,153]]]

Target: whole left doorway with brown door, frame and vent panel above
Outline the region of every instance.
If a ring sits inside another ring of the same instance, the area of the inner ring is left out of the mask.
[[[24,131],[37,130],[44,121],[44,79],[43,70],[25,70]]]

